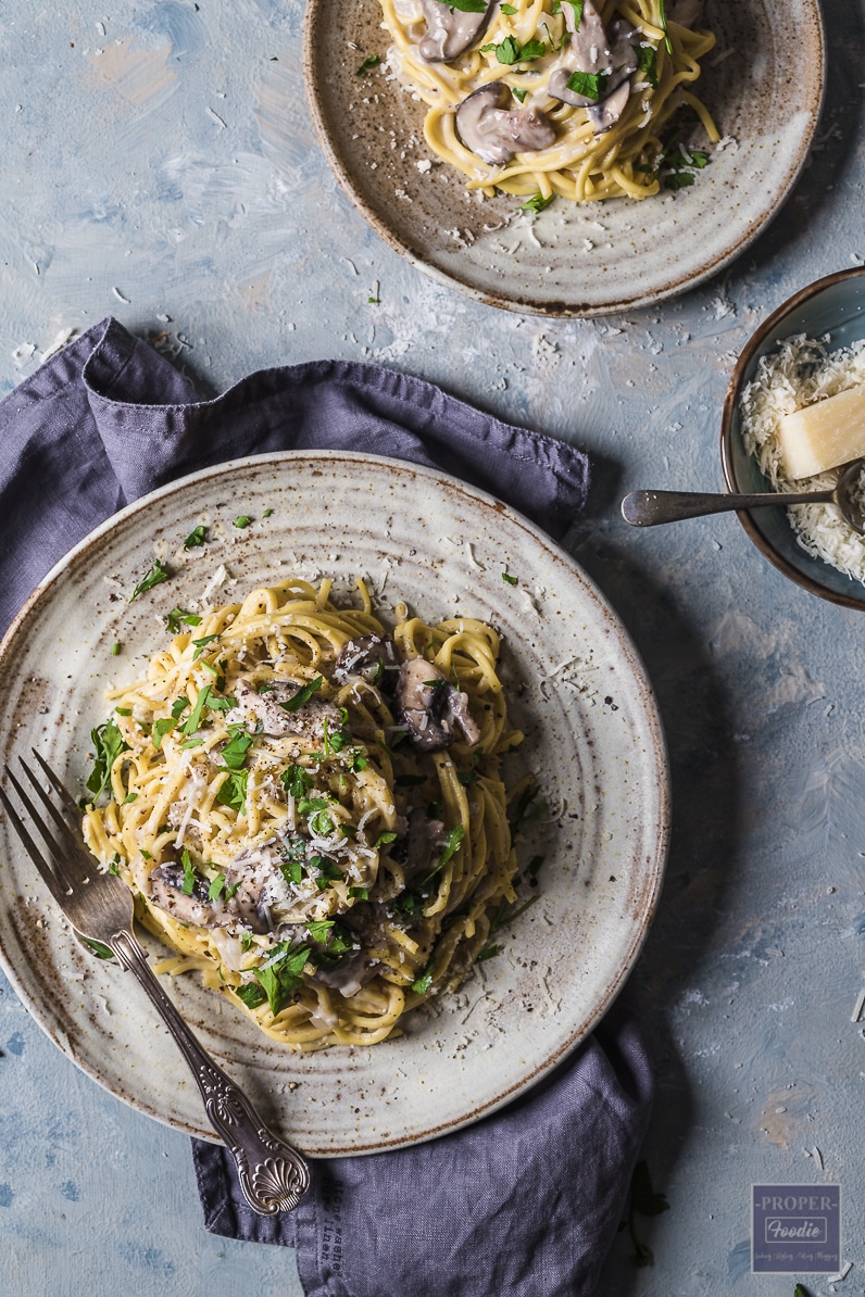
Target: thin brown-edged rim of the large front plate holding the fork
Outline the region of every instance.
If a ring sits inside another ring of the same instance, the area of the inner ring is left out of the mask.
[[[353,1141],[350,1145],[338,1148],[315,1148],[310,1149],[309,1153],[313,1157],[328,1158],[328,1157],[345,1157],[345,1156],[367,1156],[384,1150],[393,1150],[397,1148],[410,1147],[414,1144],[420,1144],[431,1139],[437,1139],[445,1134],[454,1132],[466,1126],[471,1126],[481,1118],[497,1112],[498,1109],[512,1102],[520,1095],[528,1092],[533,1086],[536,1086],[543,1077],[546,1077],[555,1066],[558,1066],[564,1058],[569,1057],[575,1049],[577,1049],[591,1034],[600,1018],[610,1010],[622,987],[625,986],[633,968],[639,957],[643,944],[648,936],[655,913],[658,909],[660,894],[663,890],[664,874],[667,868],[667,861],[669,856],[670,835],[672,835],[672,815],[670,815],[670,763],[667,739],[664,734],[660,707],[658,703],[658,696],[652,682],[646,671],[642,656],[630,636],[625,628],[622,620],[619,617],[616,611],[612,608],[610,601],[599,590],[591,577],[585,572],[585,569],[567,553],[556,541],[552,540],[538,524],[533,523],[519,510],[514,508],[511,505],[506,503],[501,498],[493,495],[489,492],[482,490],[482,488],[473,486],[466,482],[463,479],[454,475],[446,473],[445,471],[431,467],[427,464],[418,464],[411,460],[396,459],[385,455],[373,455],[363,451],[355,450],[287,450],[287,451],[270,451],[258,455],[245,455],[237,459],[223,460],[219,464],[209,466],[196,472],[187,473],[183,477],[174,479],[170,482],[163,484],[153,492],[147,493],[130,505],[112,514],[108,519],[95,527],[87,533],[80,541],[78,541],[58,562],[51,568],[51,571],[41,578],[38,586],[32,590],[30,597],[25,601],[18,613],[10,623],[8,630],[0,639],[0,669],[5,665],[6,655],[10,648],[17,643],[17,637],[22,628],[26,626],[29,617],[31,616],[35,606],[43,599],[49,597],[57,580],[75,564],[75,562],[86,554],[89,547],[102,540],[114,528],[126,523],[130,518],[136,514],[147,512],[153,503],[165,499],[172,494],[176,494],[189,485],[197,485],[198,482],[206,481],[214,477],[222,477],[228,473],[236,473],[239,470],[246,467],[261,468],[262,466],[275,463],[283,464],[285,462],[297,460],[319,460],[326,463],[368,463],[373,462],[389,470],[399,470],[412,475],[420,475],[428,477],[433,481],[444,480],[449,488],[458,488],[469,499],[480,501],[485,507],[493,508],[498,516],[507,514],[510,519],[519,527],[528,530],[537,542],[543,547],[552,551],[552,554],[564,562],[565,567],[571,571],[573,577],[584,586],[586,595],[594,601],[599,612],[603,615],[604,620],[616,632],[617,645],[622,656],[626,661],[628,669],[632,673],[632,678],[635,680],[639,695],[642,699],[642,709],[648,721],[646,733],[647,751],[650,752],[650,764],[654,772],[654,792],[658,800],[658,824],[656,824],[656,837],[652,843],[652,859],[651,868],[646,870],[645,874],[645,900],[639,908],[635,917],[634,934],[630,944],[625,953],[622,953],[619,969],[615,978],[607,986],[604,994],[598,997],[591,1013],[589,1013],[578,1025],[568,1027],[568,1036],[556,1048],[549,1049],[542,1060],[536,1060],[534,1066],[530,1066],[524,1071],[521,1078],[510,1086],[504,1092],[499,1091],[494,1097],[486,1100],[482,1104],[476,1104],[471,1112],[466,1113],[462,1118],[449,1119],[445,1123],[437,1126],[428,1126],[424,1131],[419,1134],[409,1135],[407,1137],[393,1137],[393,1136],[377,1136],[373,1141],[362,1143],[359,1140]],[[65,922],[65,921],[64,921]],[[66,923],[66,926],[69,926]],[[1,934],[0,934],[1,936]],[[70,936],[70,939],[74,939]],[[36,997],[31,995],[30,991],[22,984],[18,978],[14,961],[6,956],[3,940],[0,939],[0,968],[5,973],[9,983],[12,984],[16,995],[21,1003],[27,1008],[34,1021],[45,1032],[52,1044],[71,1061],[80,1071],[83,1071],[89,1079],[95,1080],[102,1089],[108,1091],[115,1099],[119,1099],[127,1106],[132,1108],[135,1112],[141,1113],[161,1124],[166,1124],[172,1130],[182,1131],[193,1137],[211,1140],[219,1143],[219,1136],[213,1131],[202,1130],[189,1124],[183,1119],[169,1118],[162,1115],[157,1105],[150,1102],[149,1096],[134,1093],[131,1089],[118,1089],[109,1080],[99,1074],[95,1066],[89,1066],[87,1061],[79,1058],[78,1051],[73,1047],[70,1040],[58,1039],[57,1034],[51,1029],[51,1021],[43,1014],[43,1008]],[[290,1054],[294,1057],[294,1054]]]

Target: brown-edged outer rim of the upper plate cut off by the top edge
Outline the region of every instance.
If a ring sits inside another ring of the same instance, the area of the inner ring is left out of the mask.
[[[377,0],[372,0],[377,3]],[[303,42],[302,42],[302,70],[303,70],[303,84],[306,87],[306,101],[313,119],[313,127],[315,130],[319,147],[324,153],[326,161],[331,167],[333,175],[338,180],[344,192],[350,198],[355,210],[366,220],[366,223],[379,235],[379,237],[396,253],[403,257],[409,265],[414,266],[421,274],[428,275],[431,279],[436,280],[446,288],[455,289],[458,293],[468,296],[477,302],[482,302],[485,306],[494,306],[499,310],[514,311],[519,315],[536,315],[546,319],[593,319],[603,315],[621,314],[622,311],[639,310],[647,306],[655,306],[658,302],[667,301],[670,297],[678,297],[682,293],[690,292],[693,288],[699,287],[705,283],[705,280],[713,278],[725,270],[733,261],[738,259],[755,241],[759,236],[772,224],[783,205],[787,202],[794,187],[796,185],[804,167],[808,161],[808,154],[813,144],[814,135],[817,134],[817,127],[822,117],[824,105],[826,101],[826,78],[829,67],[829,52],[826,43],[826,25],[824,19],[822,6],[820,0],[804,0],[811,8],[811,14],[814,21],[814,34],[820,43],[820,70],[818,70],[818,87],[816,101],[811,105],[803,105],[809,113],[808,130],[799,143],[799,149],[796,154],[795,163],[790,169],[785,184],[776,191],[773,202],[755,219],[751,222],[750,227],[738,237],[734,246],[718,253],[713,261],[705,265],[702,270],[693,275],[686,275],[682,279],[669,283],[665,288],[656,289],[650,293],[634,293],[630,297],[620,297],[616,301],[607,301],[602,305],[590,303],[568,303],[564,302],[541,302],[533,298],[521,298],[514,296],[501,296],[498,293],[490,293],[481,288],[475,287],[466,280],[456,278],[455,275],[447,274],[447,271],[441,270],[438,266],[433,266],[429,261],[425,261],[423,254],[419,253],[411,244],[397,235],[388,224],[386,219],[380,215],[377,209],[367,202],[358,187],[354,184],[348,167],[344,165],[341,156],[336,150],[329,134],[327,131],[326,115],[320,105],[318,95],[318,77],[315,70],[315,48],[316,40],[315,34],[319,30],[319,23],[323,22],[323,16],[327,13],[328,6],[332,6],[332,0],[307,0],[305,14],[303,14]]]

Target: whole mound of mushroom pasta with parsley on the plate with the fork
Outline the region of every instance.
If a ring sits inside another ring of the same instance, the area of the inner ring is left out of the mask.
[[[160,970],[201,970],[294,1049],[384,1040],[515,899],[498,636],[402,606],[388,633],[358,591],[175,610],[93,732],[86,840],[176,952]]]

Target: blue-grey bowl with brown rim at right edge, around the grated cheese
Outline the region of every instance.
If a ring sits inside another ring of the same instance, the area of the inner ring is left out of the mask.
[[[773,489],[742,442],[739,397],[755,377],[760,358],[773,353],[778,341],[796,333],[817,339],[829,333],[833,351],[865,337],[865,267],[826,275],[795,293],[764,320],[742,351],[721,415],[721,463],[730,492]],[[741,511],[739,521],[757,549],[796,585],[846,608],[865,610],[865,585],[803,550],[785,508]]]

